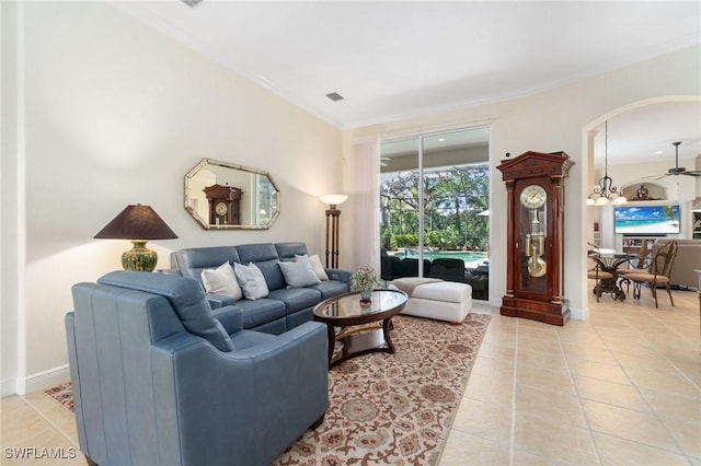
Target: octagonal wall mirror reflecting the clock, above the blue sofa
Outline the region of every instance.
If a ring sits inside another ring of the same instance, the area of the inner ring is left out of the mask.
[[[267,172],[203,159],[185,175],[185,209],[206,230],[267,230],[280,213]]]

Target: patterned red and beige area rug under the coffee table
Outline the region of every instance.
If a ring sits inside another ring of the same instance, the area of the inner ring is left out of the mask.
[[[450,325],[397,316],[391,334],[397,352],[332,369],[323,424],[273,464],[437,464],[490,319],[470,314],[462,325]],[[73,409],[70,383],[45,393]]]

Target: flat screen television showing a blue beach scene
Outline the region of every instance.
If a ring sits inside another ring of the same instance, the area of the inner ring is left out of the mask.
[[[679,234],[679,206],[616,206],[617,234]]]

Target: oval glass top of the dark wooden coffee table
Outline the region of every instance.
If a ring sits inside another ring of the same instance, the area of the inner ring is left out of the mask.
[[[331,318],[354,318],[380,314],[406,302],[406,294],[397,290],[372,290],[370,302],[360,303],[360,293],[347,293],[332,298],[314,307],[314,315]]]

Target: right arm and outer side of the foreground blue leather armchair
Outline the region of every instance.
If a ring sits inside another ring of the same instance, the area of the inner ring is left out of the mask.
[[[306,330],[261,335],[258,343],[231,352],[189,335],[152,347],[156,416],[173,435],[186,429],[179,464],[221,463],[211,445],[227,445],[237,464],[269,464],[323,415],[326,333],[315,325]]]

